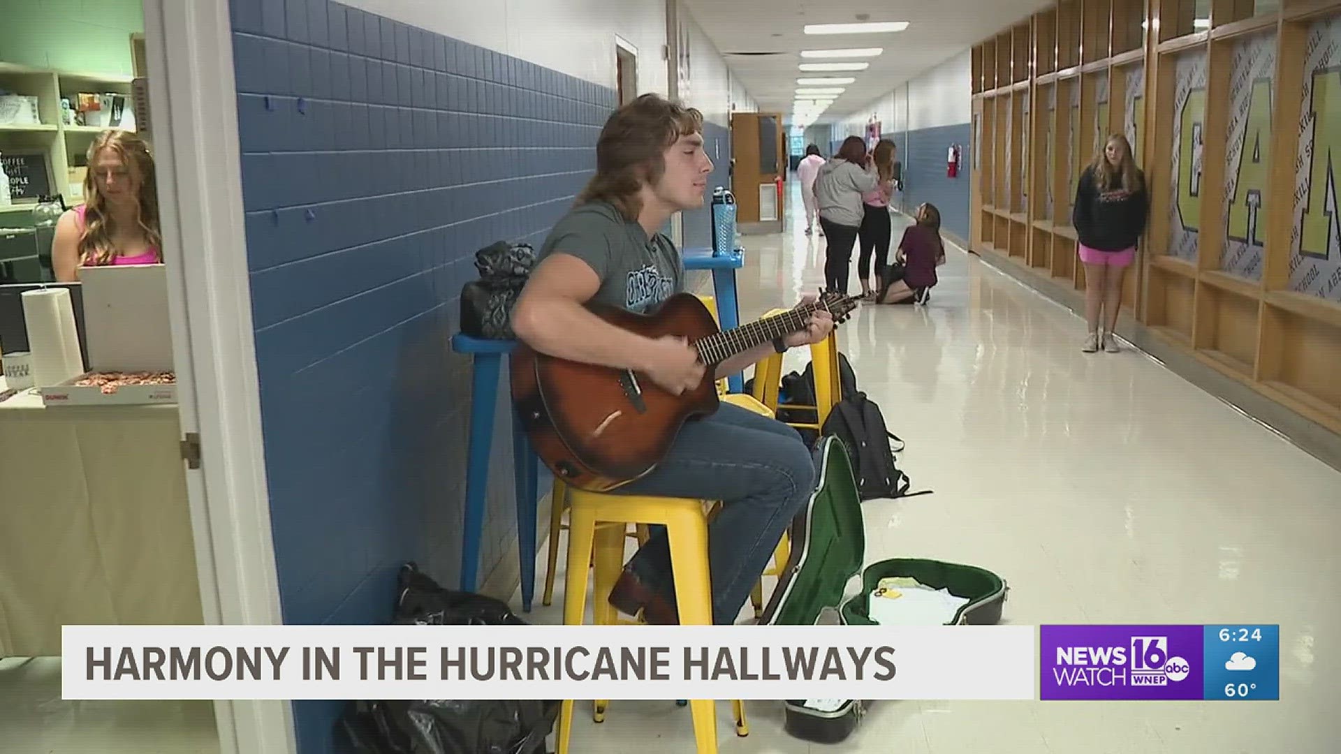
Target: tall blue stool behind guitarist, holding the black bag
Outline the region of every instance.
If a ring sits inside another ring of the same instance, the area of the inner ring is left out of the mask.
[[[465,451],[465,530],[461,537],[461,589],[473,592],[479,578],[480,539],[489,482],[489,451],[493,447],[493,415],[498,405],[503,357],[516,341],[452,335],[452,350],[473,357],[471,372],[471,437]],[[535,593],[535,517],[539,457],[512,412],[512,474],[516,484],[516,533],[522,559],[522,609],[531,612]]]

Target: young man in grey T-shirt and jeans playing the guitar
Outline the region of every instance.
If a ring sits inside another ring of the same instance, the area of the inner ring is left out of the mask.
[[[539,353],[636,370],[680,394],[703,380],[740,372],[833,331],[827,311],[807,327],[725,360],[705,374],[699,352],[681,338],[645,338],[610,325],[587,303],[653,311],[684,291],[680,251],[661,232],[676,212],[704,204],[712,160],[703,149],[703,115],[654,94],[616,111],[595,148],[595,176],[550,231],[540,262],[512,310],[516,335]],[[772,557],[782,533],[810,496],[810,448],[791,427],[721,404],[688,421],[657,467],[617,495],[721,500],[708,526],[713,623],[732,624]],[[670,545],[664,527],[633,555],[609,596],[629,616],[679,623]],[[793,542],[793,546],[805,546]]]

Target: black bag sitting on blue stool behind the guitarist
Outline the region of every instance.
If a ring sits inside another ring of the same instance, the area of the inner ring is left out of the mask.
[[[510,341],[512,305],[535,267],[530,244],[498,241],[475,252],[480,278],[461,286],[461,331],[475,338]]]

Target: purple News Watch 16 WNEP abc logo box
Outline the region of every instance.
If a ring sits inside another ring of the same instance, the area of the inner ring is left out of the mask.
[[[1200,699],[1202,627],[1042,627],[1043,699]]]

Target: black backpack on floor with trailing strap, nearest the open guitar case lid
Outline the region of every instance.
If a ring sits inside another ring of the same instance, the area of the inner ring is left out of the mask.
[[[894,453],[904,449],[904,441],[885,428],[885,416],[866,393],[843,394],[825,420],[823,433],[838,437],[848,449],[862,500],[911,498],[931,492],[908,492],[912,482],[894,466]],[[897,449],[890,447],[890,440],[898,443]]]

